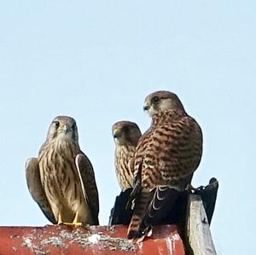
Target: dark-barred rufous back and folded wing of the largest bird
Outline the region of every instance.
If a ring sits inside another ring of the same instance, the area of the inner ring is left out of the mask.
[[[201,161],[202,133],[195,119],[185,116],[156,127],[144,148],[144,188],[169,185],[183,190]]]

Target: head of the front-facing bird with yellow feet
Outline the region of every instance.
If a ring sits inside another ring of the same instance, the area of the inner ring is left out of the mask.
[[[49,125],[48,138],[65,141],[79,141],[76,121],[67,116],[57,116]]]

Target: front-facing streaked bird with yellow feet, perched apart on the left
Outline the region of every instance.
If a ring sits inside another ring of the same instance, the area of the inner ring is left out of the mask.
[[[90,160],[79,148],[73,118],[58,116],[49,125],[38,158],[26,161],[26,182],[51,223],[99,223],[95,175]]]

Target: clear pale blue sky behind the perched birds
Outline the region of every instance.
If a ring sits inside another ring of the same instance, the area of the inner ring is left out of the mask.
[[[201,124],[193,183],[217,177],[218,254],[255,254],[255,1],[1,1],[0,225],[49,223],[26,188],[50,121],[73,116],[94,165],[100,221],[119,193],[111,126],[150,119],[144,97],[171,90]]]

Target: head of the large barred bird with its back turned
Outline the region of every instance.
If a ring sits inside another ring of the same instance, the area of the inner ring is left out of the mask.
[[[147,111],[150,117],[171,109],[184,111],[182,102],[172,92],[160,90],[145,98],[143,110]]]

